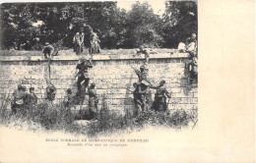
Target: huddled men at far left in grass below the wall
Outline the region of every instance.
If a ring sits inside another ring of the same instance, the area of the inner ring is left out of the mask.
[[[19,84],[13,93],[11,102],[12,112],[26,111],[37,104],[37,96],[34,93],[34,87],[30,87],[30,93],[26,92],[26,86]]]

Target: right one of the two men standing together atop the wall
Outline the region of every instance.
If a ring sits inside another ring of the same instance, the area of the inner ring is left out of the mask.
[[[96,53],[100,53],[100,47],[99,47],[100,40],[98,39],[98,36],[96,35],[96,32],[94,30],[90,30],[90,54],[93,56]]]

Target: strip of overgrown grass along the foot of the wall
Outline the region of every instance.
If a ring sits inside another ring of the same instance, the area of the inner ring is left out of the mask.
[[[76,117],[78,115],[62,104],[52,106],[43,102],[33,107],[25,107],[17,114],[12,114],[6,109],[8,104],[10,104],[10,98],[5,97],[0,105],[0,124],[9,128],[26,128],[33,132],[45,130],[63,131],[75,135],[111,136],[117,132],[140,131],[149,126],[180,130],[197,120],[196,110],[170,110],[165,113],[149,111],[137,118],[134,118],[130,112],[122,115],[116,110],[108,108],[104,96],[97,120],[90,121],[86,125],[77,123]]]

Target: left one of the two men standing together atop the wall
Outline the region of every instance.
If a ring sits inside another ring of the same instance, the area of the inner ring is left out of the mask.
[[[79,32],[77,32],[73,37],[74,52],[76,52],[77,55],[81,54],[84,51],[84,39],[84,27],[80,27]]]

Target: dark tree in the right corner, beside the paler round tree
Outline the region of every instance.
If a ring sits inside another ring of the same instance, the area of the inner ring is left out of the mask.
[[[164,47],[178,46],[191,33],[197,33],[197,3],[195,1],[168,1],[162,16]]]

